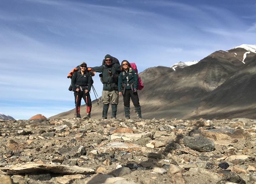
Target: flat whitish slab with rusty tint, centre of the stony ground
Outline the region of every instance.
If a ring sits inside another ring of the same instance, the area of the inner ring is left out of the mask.
[[[110,142],[109,144],[97,147],[100,151],[110,151],[115,149],[122,151],[139,151],[141,148],[140,145],[126,142]]]

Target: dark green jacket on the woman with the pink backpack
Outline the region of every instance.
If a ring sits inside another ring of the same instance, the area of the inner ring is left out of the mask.
[[[126,86],[126,90],[131,89],[131,84],[133,84],[132,88],[137,89],[138,87],[138,75],[134,69],[132,69],[132,72],[127,70],[127,72],[124,70],[119,74],[118,77],[118,92],[122,91],[122,84],[129,84]]]

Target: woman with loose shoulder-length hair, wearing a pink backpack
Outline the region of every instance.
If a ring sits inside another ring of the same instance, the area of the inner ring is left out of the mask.
[[[137,93],[138,75],[127,60],[121,63],[121,73],[118,77],[118,93],[124,97],[125,119],[130,119],[130,98],[134,105],[137,119],[141,119],[141,108]]]

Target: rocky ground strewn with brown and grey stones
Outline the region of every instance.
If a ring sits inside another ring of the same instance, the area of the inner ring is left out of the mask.
[[[256,183],[256,120],[0,120],[1,184]]]

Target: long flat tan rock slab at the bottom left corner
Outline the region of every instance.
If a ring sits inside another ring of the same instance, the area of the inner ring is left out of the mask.
[[[37,172],[51,172],[60,174],[92,174],[94,169],[78,167],[78,166],[64,166],[52,164],[17,164],[14,166],[6,166],[0,168],[1,171],[9,174],[23,174],[23,173],[37,173]]]

